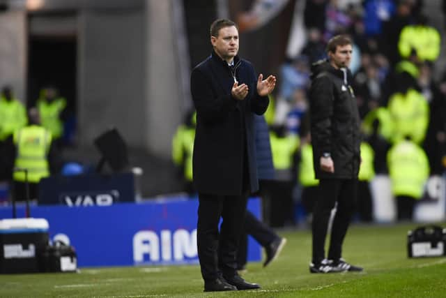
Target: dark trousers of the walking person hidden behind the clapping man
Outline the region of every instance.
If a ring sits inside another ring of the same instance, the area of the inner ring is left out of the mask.
[[[242,269],[247,262],[248,235],[251,235],[262,247],[268,246],[279,237],[268,225],[259,221],[250,211],[246,211],[245,229],[238,245],[237,269]]]

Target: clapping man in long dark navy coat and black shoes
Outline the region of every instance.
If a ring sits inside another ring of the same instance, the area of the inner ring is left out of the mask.
[[[205,291],[254,289],[259,285],[238,276],[236,254],[247,197],[259,188],[254,114],[266,111],[276,79],[256,77],[252,64],[237,56],[232,21],[213,22],[210,43],[211,56],[192,70],[190,80],[197,110],[192,163],[201,275]]]

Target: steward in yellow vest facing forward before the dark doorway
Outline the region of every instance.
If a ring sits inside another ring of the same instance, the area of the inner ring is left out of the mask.
[[[63,135],[61,114],[66,105],[66,99],[58,97],[56,89],[48,87],[40,91],[40,98],[37,100],[40,121],[54,139],[59,139]]]

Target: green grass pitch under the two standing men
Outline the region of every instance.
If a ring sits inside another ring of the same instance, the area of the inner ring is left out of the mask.
[[[446,258],[407,257],[407,231],[418,225],[352,225],[343,255],[362,273],[309,274],[311,233],[293,230],[280,232],[288,243],[266,269],[248,264],[243,277],[260,290],[203,293],[197,265],[107,267],[0,275],[0,297],[446,297]]]

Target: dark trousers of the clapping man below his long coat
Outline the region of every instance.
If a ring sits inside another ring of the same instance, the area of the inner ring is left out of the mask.
[[[243,231],[248,193],[237,196],[199,193],[197,246],[204,281],[233,276]],[[218,225],[223,219],[220,231]]]

